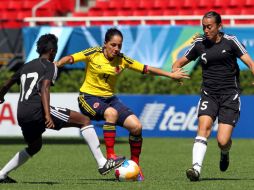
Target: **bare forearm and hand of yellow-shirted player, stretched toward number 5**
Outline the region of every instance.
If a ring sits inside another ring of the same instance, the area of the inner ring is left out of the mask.
[[[158,75],[158,76],[165,76],[173,79],[189,79],[189,75],[186,73],[186,71],[183,71],[182,69],[178,69],[176,72],[167,72],[159,68],[148,66],[147,68],[148,74]]]

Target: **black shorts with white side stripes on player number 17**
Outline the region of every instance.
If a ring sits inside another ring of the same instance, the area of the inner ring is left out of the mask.
[[[60,130],[69,121],[70,110],[67,108],[59,108],[50,106],[50,114],[55,124],[54,130]],[[22,122],[19,121],[24,139],[27,143],[33,143],[45,131],[45,118],[41,117],[37,120]]]

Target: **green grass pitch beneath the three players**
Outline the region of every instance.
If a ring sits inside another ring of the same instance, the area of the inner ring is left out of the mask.
[[[126,139],[118,139],[118,154],[129,157]],[[19,139],[0,140],[0,167],[24,147]],[[3,190],[84,189],[252,189],[254,187],[254,140],[234,139],[228,171],[219,171],[219,149],[209,140],[201,181],[189,182],[193,139],[145,138],[141,164],[143,182],[118,182],[114,172],[101,176],[88,146],[82,140],[45,139],[39,154],[10,174],[17,184],[0,184]],[[101,146],[103,151],[104,145]]]

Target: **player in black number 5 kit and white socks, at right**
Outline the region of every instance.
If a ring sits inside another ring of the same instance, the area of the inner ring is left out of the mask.
[[[195,39],[173,71],[199,58],[202,65],[201,99],[198,105],[198,131],[193,145],[192,168],[186,170],[191,181],[198,181],[213,122],[218,118],[217,141],[221,150],[220,170],[229,165],[231,135],[240,115],[240,81],[237,58],[254,74],[254,62],[235,36],[221,32],[221,16],[208,12],[202,19],[204,35]]]

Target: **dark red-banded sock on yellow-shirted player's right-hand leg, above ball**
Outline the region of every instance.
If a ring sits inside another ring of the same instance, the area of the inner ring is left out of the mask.
[[[131,149],[131,160],[139,165],[139,156],[142,149],[142,135],[129,135],[129,144]]]

